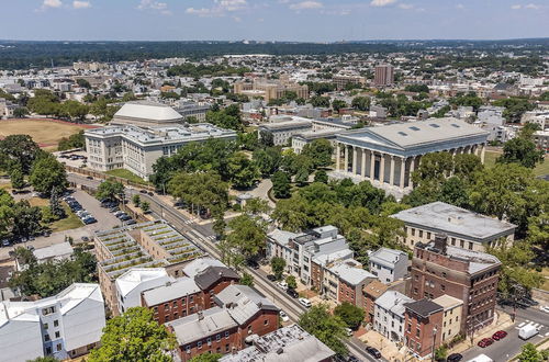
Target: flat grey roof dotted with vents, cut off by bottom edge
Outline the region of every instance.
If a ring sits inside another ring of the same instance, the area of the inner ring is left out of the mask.
[[[307,333],[299,325],[291,325],[254,339],[251,347],[226,354],[220,362],[329,362],[335,355],[336,353],[316,337]]]

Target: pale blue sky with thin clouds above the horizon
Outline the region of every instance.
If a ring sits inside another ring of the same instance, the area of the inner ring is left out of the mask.
[[[502,39],[549,36],[549,0],[0,0],[26,41]]]

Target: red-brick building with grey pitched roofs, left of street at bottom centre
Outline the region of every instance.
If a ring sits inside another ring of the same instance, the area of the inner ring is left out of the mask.
[[[246,341],[278,329],[279,308],[246,285],[229,285],[214,296],[216,306],[172,321],[181,361],[202,353],[227,354]]]

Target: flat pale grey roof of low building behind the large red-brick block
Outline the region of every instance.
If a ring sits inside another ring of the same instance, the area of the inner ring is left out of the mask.
[[[462,235],[472,239],[494,239],[515,233],[516,225],[471,211],[434,202],[401,211],[391,217],[404,223],[421,225],[441,233]]]

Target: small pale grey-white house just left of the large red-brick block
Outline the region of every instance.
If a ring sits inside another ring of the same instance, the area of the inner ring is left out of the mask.
[[[379,248],[370,254],[369,261],[370,272],[384,284],[404,279],[411,264],[407,253],[389,248]]]

